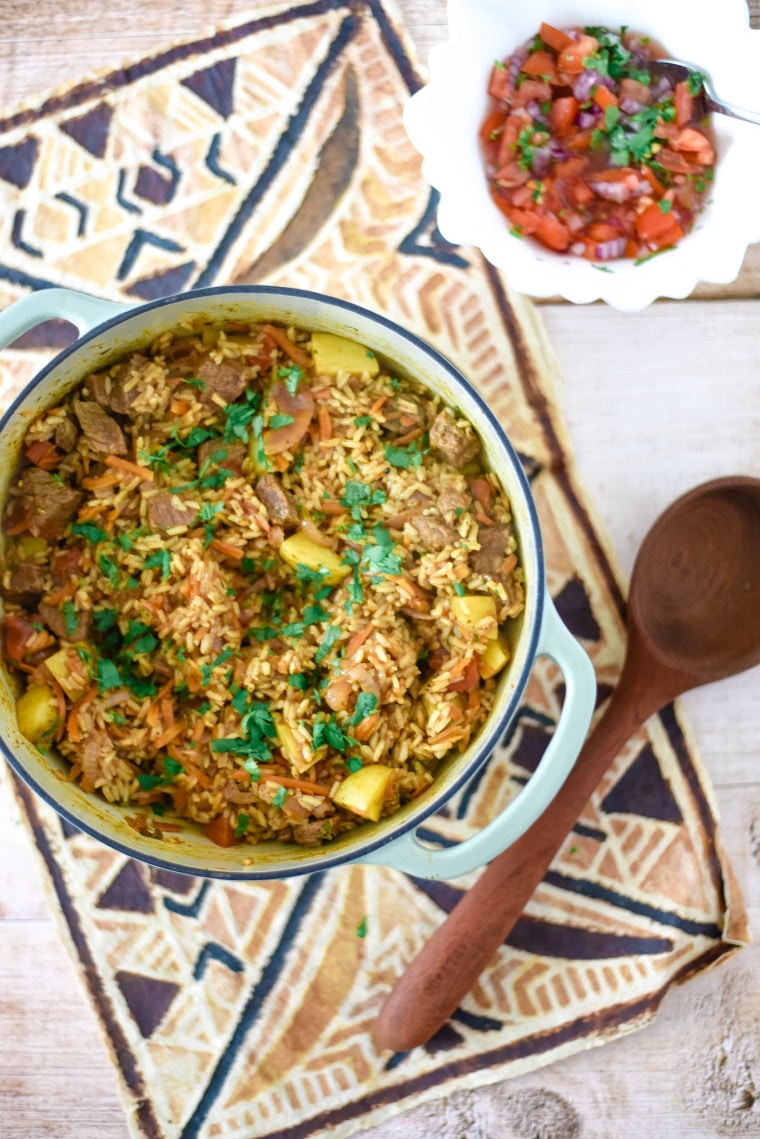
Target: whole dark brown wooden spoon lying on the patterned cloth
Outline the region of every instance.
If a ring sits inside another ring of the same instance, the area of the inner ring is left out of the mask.
[[[430,1040],[521,916],[611,761],[689,688],[760,662],[760,480],[704,483],[657,519],[638,552],[620,682],[562,790],[491,862],[408,966],[381,1011],[381,1048]]]

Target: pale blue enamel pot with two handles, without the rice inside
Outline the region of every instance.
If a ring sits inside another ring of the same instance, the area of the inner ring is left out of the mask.
[[[536,507],[520,460],[489,408],[442,355],[383,317],[344,301],[297,289],[237,286],[199,289],[139,308],[68,289],[34,293],[0,314],[0,347],[52,318],[71,321],[81,335],[42,369],[0,420],[3,456],[0,500],[5,501],[32,415],[55,405],[93,369],[145,346],[180,321],[198,317],[211,321],[277,320],[351,337],[392,363],[397,372],[422,380],[448,404],[461,408],[473,423],[483,443],[487,465],[498,474],[512,501],[526,580],[526,607],[517,623],[512,661],[499,677],[495,708],[467,749],[440,767],[428,792],[391,818],[363,825],[327,846],[313,849],[283,843],[221,849],[199,829],[190,827],[172,845],[139,835],[125,821],[129,808],[108,804],[62,778],[68,764],[55,753],[41,755],[21,735],[13,687],[5,672],[0,674],[0,747],[14,771],[75,827],[154,866],[203,877],[240,879],[311,874],[349,862],[394,867],[423,878],[468,874],[514,843],[557,794],[586,737],[596,685],[588,657],[559,620],[547,591]],[[520,707],[531,667],[539,656],[548,656],[559,666],[566,695],[559,722],[538,769],[505,810],[477,834],[444,850],[423,843],[417,828],[487,762]]]

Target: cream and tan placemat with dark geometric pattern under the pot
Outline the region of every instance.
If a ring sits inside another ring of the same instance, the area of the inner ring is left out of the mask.
[[[0,303],[58,284],[139,301],[265,280],[350,297],[419,333],[479,386],[523,457],[549,588],[602,702],[623,655],[619,575],[578,483],[538,317],[435,228],[401,123],[419,82],[392,9],[318,0],[8,113]],[[5,354],[3,402],[67,336],[52,325]],[[497,755],[431,833],[457,841],[518,792],[561,699],[541,662]],[[450,1023],[393,1056],[373,1043],[376,1013],[474,876],[187,878],[129,861],[17,794],[130,1128],[146,1139],[351,1134],[639,1027],[670,984],[746,937],[673,707],[619,756]]]

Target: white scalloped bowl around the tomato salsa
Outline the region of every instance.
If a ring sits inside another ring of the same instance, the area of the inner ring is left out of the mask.
[[[760,33],[750,31],[745,0],[449,0],[449,39],[431,51],[430,82],[404,109],[423,155],[423,173],[440,192],[439,230],[453,245],[476,246],[509,285],[530,296],[574,303],[606,301],[626,312],[660,296],[685,297],[698,281],[735,280],[747,245],[760,240],[760,126],[714,115],[718,161],[712,196],[673,251],[610,271],[509,232],[491,202],[477,131],[488,107],[495,59],[506,58],[546,21],[556,27],[596,24],[655,36],[672,58],[706,72],[719,96],[760,109]]]

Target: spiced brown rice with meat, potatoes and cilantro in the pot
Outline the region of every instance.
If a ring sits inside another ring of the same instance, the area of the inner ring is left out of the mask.
[[[28,427],[19,727],[156,838],[327,842],[424,793],[493,706],[524,605],[508,499],[458,411],[328,341],[183,326]]]

